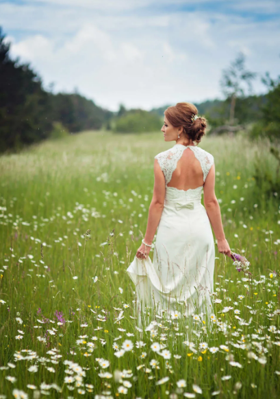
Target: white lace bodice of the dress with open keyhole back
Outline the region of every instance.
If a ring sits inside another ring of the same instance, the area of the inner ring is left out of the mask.
[[[214,163],[214,157],[209,152],[203,150],[197,146],[183,146],[183,144],[175,144],[169,150],[160,152],[160,154],[155,155],[155,159],[160,165],[162,172],[164,173],[165,185],[166,185],[166,199],[170,201],[179,200],[197,200],[200,201],[201,194],[203,192],[203,185],[200,187],[196,187],[194,189],[190,188],[188,190],[179,190],[175,187],[168,187],[168,183],[170,182],[173,172],[177,168],[177,163],[181,156],[183,155],[183,151],[186,148],[190,148],[192,152],[194,152],[194,156],[199,160],[201,164],[201,169],[203,171],[203,181],[207,177],[207,174]]]

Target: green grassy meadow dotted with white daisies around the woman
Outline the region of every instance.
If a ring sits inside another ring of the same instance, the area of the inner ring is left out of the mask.
[[[0,157],[1,398],[278,398],[280,207],[257,188],[265,141],[205,137],[231,250],[214,313],[136,326],[126,269],[144,236],[162,133],[85,132]],[[90,232],[88,231],[90,230]],[[150,253],[153,257],[153,251]]]

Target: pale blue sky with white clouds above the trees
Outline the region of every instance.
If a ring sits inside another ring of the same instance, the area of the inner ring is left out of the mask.
[[[279,0],[0,0],[0,26],[44,88],[111,111],[222,98],[239,52],[255,93],[280,71]]]

